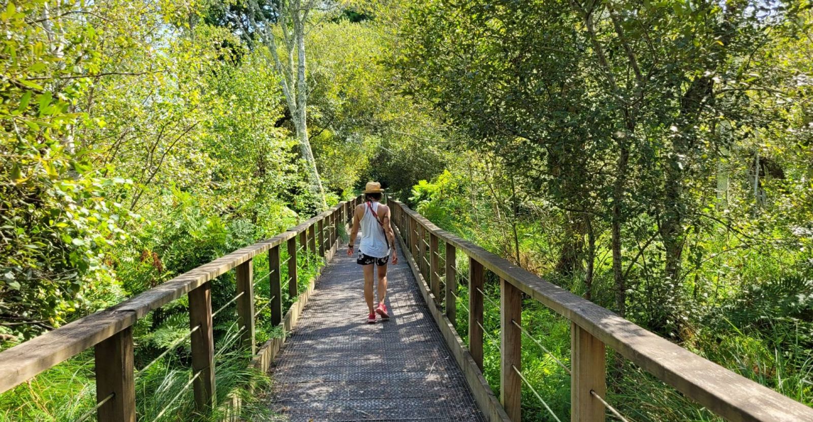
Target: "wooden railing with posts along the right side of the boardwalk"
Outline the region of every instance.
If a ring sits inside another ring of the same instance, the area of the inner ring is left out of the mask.
[[[526,294],[571,321],[571,368],[565,369],[571,372],[572,421],[603,421],[606,411],[616,412],[605,395],[606,347],[727,420],[813,421],[811,407],[703,359],[470,241],[437,228],[402,202],[390,200],[389,205],[407,261],[424,290],[430,311],[489,420],[520,420],[520,392],[522,383],[526,382],[522,374],[520,340],[523,334],[528,334],[522,326],[521,305],[522,294]],[[446,265],[442,269],[441,242],[446,252]],[[458,252],[468,258],[468,274],[464,277],[468,284],[467,347],[455,330]],[[486,271],[500,279],[499,401],[482,375]],[[443,291],[441,279],[446,281]]]

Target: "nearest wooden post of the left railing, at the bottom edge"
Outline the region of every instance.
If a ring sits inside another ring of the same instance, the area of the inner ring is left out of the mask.
[[[133,327],[127,327],[98,343],[96,402],[113,397],[98,408],[98,420],[136,422],[136,386],[133,372]]]

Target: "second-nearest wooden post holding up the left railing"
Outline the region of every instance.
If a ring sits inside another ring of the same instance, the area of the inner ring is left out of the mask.
[[[195,407],[208,411],[215,404],[215,335],[211,324],[211,281],[187,294],[189,298],[189,328],[200,328],[192,333],[192,373],[200,372],[192,387]],[[101,419],[100,419],[101,420]]]

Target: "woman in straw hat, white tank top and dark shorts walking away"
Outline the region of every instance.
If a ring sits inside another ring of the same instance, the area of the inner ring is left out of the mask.
[[[393,255],[393,265],[398,263],[398,253],[395,251],[395,235],[389,225],[389,207],[380,203],[384,194],[381,184],[368,182],[364,191],[364,203],[355,208],[353,214],[353,229],[350,232],[350,243],[347,245],[347,256],[353,256],[353,246],[356,236],[361,228],[361,241],[359,242],[359,257],[356,263],[362,266],[364,272],[364,300],[370,314],[367,323],[376,322],[376,314],[382,320],[389,319],[384,299],[387,296],[387,262],[390,252]],[[378,306],[374,307],[372,294],[373,264],[378,268]]]

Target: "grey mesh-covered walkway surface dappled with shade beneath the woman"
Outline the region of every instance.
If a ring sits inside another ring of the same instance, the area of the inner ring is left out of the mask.
[[[391,317],[367,324],[361,267],[339,248],[271,369],[276,420],[485,420],[399,256]]]

